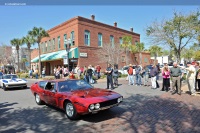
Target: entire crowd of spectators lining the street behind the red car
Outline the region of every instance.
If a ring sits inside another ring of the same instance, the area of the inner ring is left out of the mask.
[[[150,86],[151,89],[160,88],[158,84],[158,79],[160,75],[162,76],[162,87],[161,91],[169,91],[171,90],[172,95],[179,94],[181,95],[181,82],[184,76],[183,69],[185,69],[186,73],[186,81],[188,84],[188,89],[191,95],[196,95],[196,91],[200,91],[200,68],[199,62],[187,62],[186,68],[181,68],[178,66],[176,62],[173,63],[173,67],[169,68],[168,64],[165,64],[162,69],[158,65],[153,65],[152,68],[148,66],[141,65],[133,66],[129,64],[129,68],[127,69],[127,80],[128,85],[136,85],[136,86]],[[100,65],[96,65],[95,67],[92,65],[84,66],[84,67],[75,67],[72,71],[69,71],[67,67],[58,66],[54,68],[54,77],[55,79],[62,79],[68,77],[70,79],[74,79],[75,75],[77,75],[78,79],[83,79],[93,84],[96,79],[101,77],[101,72],[106,75],[107,78],[107,89],[109,86],[111,89],[118,87],[118,65],[112,66],[108,64],[105,71],[101,71]],[[35,73],[36,78],[38,78],[38,70],[31,69],[29,71],[30,77]],[[45,68],[42,69],[42,77],[45,77]],[[95,77],[95,78],[94,78]],[[150,80],[149,80],[150,79]],[[172,81],[172,85],[170,87],[170,80]]]

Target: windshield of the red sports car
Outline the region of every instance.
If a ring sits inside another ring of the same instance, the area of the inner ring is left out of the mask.
[[[75,90],[86,90],[93,88],[89,83],[84,80],[67,80],[58,82],[59,92],[68,92]]]

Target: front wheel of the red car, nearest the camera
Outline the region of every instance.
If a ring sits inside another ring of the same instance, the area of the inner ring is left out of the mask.
[[[80,116],[74,105],[69,101],[65,103],[65,114],[70,120],[76,120]]]

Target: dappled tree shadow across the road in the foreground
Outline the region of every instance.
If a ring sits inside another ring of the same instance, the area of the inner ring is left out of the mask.
[[[11,111],[17,103],[0,104],[1,132],[170,132],[188,133],[200,130],[200,109],[173,99],[133,95],[119,107],[98,114],[67,119],[63,111],[37,106]]]

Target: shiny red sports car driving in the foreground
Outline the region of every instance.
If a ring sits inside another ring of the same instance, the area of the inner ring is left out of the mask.
[[[65,110],[69,119],[109,109],[123,100],[120,94],[94,88],[84,80],[39,81],[31,86],[31,91],[38,105],[46,103]]]

